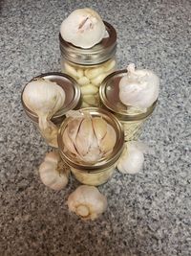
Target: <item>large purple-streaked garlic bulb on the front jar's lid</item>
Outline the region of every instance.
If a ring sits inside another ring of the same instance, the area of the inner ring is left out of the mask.
[[[103,118],[81,114],[72,117],[67,124],[63,142],[66,150],[72,152],[78,160],[94,163],[113,151],[117,134]]]

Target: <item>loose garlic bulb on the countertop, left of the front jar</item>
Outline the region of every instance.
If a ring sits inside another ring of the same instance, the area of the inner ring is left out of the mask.
[[[46,154],[39,168],[42,182],[53,190],[61,190],[68,184],[69,169],[62,162],[58,152]]]

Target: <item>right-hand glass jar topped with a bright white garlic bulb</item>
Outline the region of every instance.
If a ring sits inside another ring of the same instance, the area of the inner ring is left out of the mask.
[[[125,141],[137,140],[141,127],[152,114],[159,96],[159,78],[147,69],[127,70],[109,75],[99,88],[101,105],[111,111],[124,127]]]

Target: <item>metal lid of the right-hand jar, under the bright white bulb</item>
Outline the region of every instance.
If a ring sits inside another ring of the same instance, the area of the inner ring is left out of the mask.
[[[128,111],[127,105],[123,105],[118,97],[119,81],[127,75],[127,70],[113,72],[102,81],[99,87],[99,97],[101,104],[110,110],[120,121],[138,121],[148,117],[154,110],[157,101],[149,106],[146,111],[132,112]]]

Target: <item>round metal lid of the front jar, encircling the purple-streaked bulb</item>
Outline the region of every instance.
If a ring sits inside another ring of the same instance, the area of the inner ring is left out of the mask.
[[[117,159],[120,157],[120,154],[123,150],[124,146],[124,132],[120,122],[117,118],[110,112],[106,111],[105,109],[98,108],[98,107],[86,107],[80,109],[82,114],[89,113],[92,117],[101,117],[103,118],[108,124],[110,124],[116,131],[117,134],[117,142],[113,149],[113,151],[102,157],[100,160],[96,161],[95,164],[89,164],[85,162],[81,162],[77,159],[77,157],[70,151],[67,151],[63,141],[63,133],[65,128],[72,117],[68,117],[64,120],[61,127],[58,130],[58,149],[62,159],[71,167],[86,173],[95,173],[101,171],[101,169],[108,168],[112,166],[114,163],[117,162]]]

